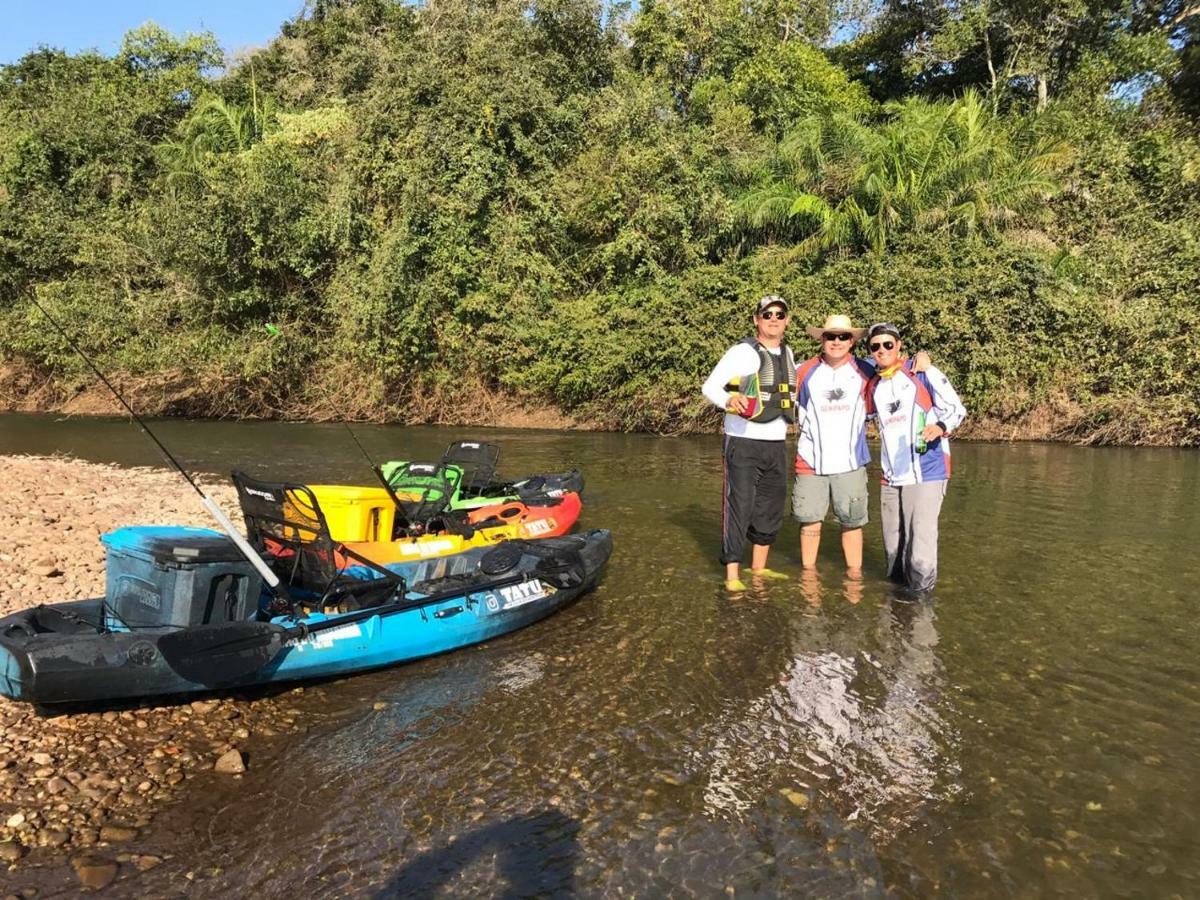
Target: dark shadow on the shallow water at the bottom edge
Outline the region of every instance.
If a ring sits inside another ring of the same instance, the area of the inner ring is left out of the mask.
[[[490,896],[572,895],[580,863],[578,821],[557,810],[529,812],[467,832],[420,853],[374,894],[377,900],[430,896],[475,869]]]

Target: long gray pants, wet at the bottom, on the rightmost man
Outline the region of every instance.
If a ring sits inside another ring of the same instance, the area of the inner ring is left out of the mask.
[[[883,485],[880,491],[888,576],[911,590],[929,590],[937,582],[937,516],[946,485],[946,481]]]

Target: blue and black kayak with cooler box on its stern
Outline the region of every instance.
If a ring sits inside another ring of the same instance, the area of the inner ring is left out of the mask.
[[[276,614],[220,533],[125,528],[104,540],[104,598],[0,619],[0,694],[102,702],[391,666],[550,616],[595,586],[612,552],[610,533],[592,530],[389,565],[389,577],[352,569]]]

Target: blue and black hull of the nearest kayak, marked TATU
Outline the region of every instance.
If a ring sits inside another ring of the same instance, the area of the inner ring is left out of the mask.
[[[0,619],[0,694],[43,704],[104,702],[346,676],[445,653],[524,628],[575,601],[595,586],[612,538],[595,530],[539,541],[536,552],[524,552],[511,569],[509,581],[516,577],[515,583],[476,589],[472,580],[496,582],[479,572],[486,552],[396,566],[412,586],[413,601],[404,608],[276,618],[272,622],[289,629],[302,623],[312,634],[288,640],[254,671],[228,678],[221,672],[199,680],[180,674],[180,666],[168,661],[172,654],[164,655],[166,644],[160,646],[168,634],[178,640],[180,629],[98,630],[102,600],[24,610]],[[550,571],[547,559],[572,560],[575,575],[556,582],[544,574]],[[439,589],[448,583],[463,587]],[[422,594],[438,599],[424,602]],[[223,625],[230,626],[241,625]]]

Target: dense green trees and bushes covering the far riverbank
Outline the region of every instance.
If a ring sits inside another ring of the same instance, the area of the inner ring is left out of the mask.
[[[36,49],[0,407],[92,403],[34,293],[146,414],[715,430],[769,292],[895,322],[967,436],[1198,445],[1198,114],[1178,0],[314,0],[239,59]]]

